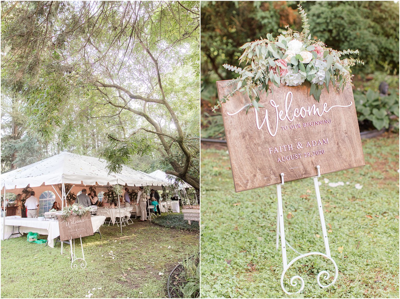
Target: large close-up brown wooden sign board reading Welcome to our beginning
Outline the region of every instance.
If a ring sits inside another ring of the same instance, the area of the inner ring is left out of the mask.
[[[232,81],[218,81],[220,100],[234,90]],[[226,141],[236,192],[364,166],[360,131],[351,86],[330,93],[320,102],[309,85],[273,86],[261,95],[264,108],[246,105],[250,99],[236,92],[222,104]],[[245,107],[245,108],[243,108]]]

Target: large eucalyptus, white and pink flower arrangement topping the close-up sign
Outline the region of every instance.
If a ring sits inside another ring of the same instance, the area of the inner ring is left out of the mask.
[[[344,54],[359,54],[358,50],[336,51],[328,48],[320,40],[312,40],[309,35],[307,14],[298,4],[302,16],[303,31],[296,32],[285,26],[286,31],[274,38],[267,34],[267,38],[248,42],[241,46],[244,49],[239,61],[246,61],[244,69],[228,64],[226,69],[239,73],[239,77],[232,81],[236,88],[232,93],[222,99],[222,103],[229,100],[236,91],[247,93],[251,106],[257,110],[263,107],[258,102],[260,94],[265,91],[272,93],[271,83],[280,87],[281,84],[298,86],[305,81],[311,83],[310,95],[319,102],[324,88],[329,92],[329,83],[332,82],[336,91],[344,89],[346,84],[352,85],[350,67],[356,63],[364,62],[354,58],[340,59]],[[221,102],[214,106],[215,111]],[[247,113],[246,111],[246,113]]]

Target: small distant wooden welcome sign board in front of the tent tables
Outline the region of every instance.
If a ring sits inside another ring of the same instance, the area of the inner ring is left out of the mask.
[[[65,220],[58,216],[60,241],[93,236],[93,227],[90,214],[84,216],[69,216]]]

